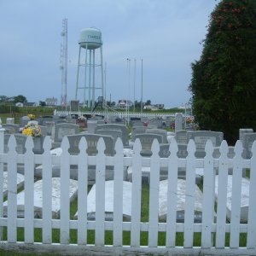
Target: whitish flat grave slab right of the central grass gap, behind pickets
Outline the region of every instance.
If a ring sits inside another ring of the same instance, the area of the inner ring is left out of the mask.
[[[160,181],[159,187],[159,218],[166,221],[167,214],[167,195],[168,195],[168,180]],[[184,222],[185,198],[186,198],[186,181],[183,179],[177,180],[177,222]],[[194,196],[194,195],[191,195]],[[194,223],[201,223],[202,219],[202,192],[195,184],[195,215]]]

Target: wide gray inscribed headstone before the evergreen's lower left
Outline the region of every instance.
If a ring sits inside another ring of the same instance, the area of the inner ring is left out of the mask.
[[[206,156],[205,147],[207,140],[212,141],[213,147],[219,147],[223,141],[221,131],[188,131],[188,142],[193,139],[195,142],[195,157],[204,158]]]

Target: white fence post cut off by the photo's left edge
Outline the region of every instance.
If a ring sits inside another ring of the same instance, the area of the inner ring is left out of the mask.
[[[0,119],[0,154],[3,154],[4,131],[2,119]],[[0,162],[0,180],[3,181],[3,163]],[[0,182],[0,218],[3,218],[3,182]],[[3,239],[3,228],[0,226],[0,241]]]

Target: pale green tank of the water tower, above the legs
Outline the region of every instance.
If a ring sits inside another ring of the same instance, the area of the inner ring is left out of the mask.
[[[102,46],[102,32],[94,27],[84,28],[80,32],[79,44],[87,49],[97,49]]]

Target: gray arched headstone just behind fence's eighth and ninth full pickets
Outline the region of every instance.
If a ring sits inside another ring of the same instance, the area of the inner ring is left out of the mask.
[[[141,155],[143,156],[152,155],[151,147],[152,147],[152,143],[154,142],[154,139],[157,139],[159,143],[163,143],[163,137],[161,135],[154,134],[154,133],[137,134],[135,136],[135,140],[137,138],[140,140],[142,144]]]

